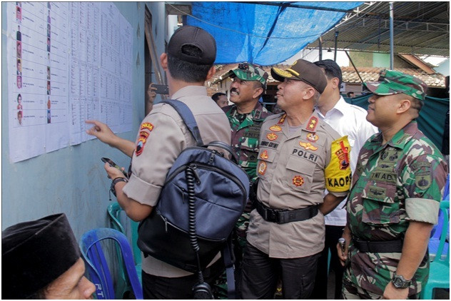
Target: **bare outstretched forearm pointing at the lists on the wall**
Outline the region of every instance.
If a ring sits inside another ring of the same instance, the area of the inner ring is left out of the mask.
[[[93,124],[92,128],[86,130],[88,135],[96,136],[98,140],[108,144],[108,146],[111,146],[112,148],[117,148],[131,158],[133,151],[135,150],[135,143],[133,143],[133,141],[128,141],[116,136],[113,131],[111,131],[111,128],[108,128],[105,123],[101,123],[100,121],[88,120],[85,122]]]

